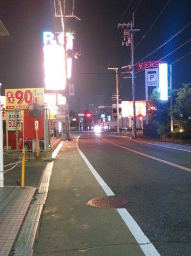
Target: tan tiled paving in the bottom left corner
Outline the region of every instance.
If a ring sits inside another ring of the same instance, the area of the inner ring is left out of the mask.
[[[0,256],[10,255],[36,188],[0,187]]]

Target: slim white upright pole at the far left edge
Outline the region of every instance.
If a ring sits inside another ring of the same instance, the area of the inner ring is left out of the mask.
[[[1,87],[1,83],[0,83]],[[0,187],[4,186],[4,175],[3,175],[3,108],[0,105]]]

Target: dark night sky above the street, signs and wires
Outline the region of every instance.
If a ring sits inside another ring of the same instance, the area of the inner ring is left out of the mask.
[[[66,14],[72,12],[72,3],[73,0],[65,0]],[[122,46],[122,28],[117,28],[117,24],[130,22],[132,11],[134,28],[140,29],[134,35],[135,47],[154,23],[135,49],[135,63],[143,58],[144,61],[161,59],[191,38],[190,24],[145,58],[191,23],[191,0],[75,0],[74,14],[81,21],[68,19],[66,28],[74,29],[74,49],[81,56],[73,61],[69,83],[74,83],[75,95],[69,96],[69,109],[82,113],[87,104],[94,105],[92,111],[98,105],[112,104],[116,80],[115,73],[107,67],[120,68],[130,63],[130,46]],[[1,95],[7,88],[44,87],[42,33],[60,30],[60,20],[55,21],[53,16],[53,0],[0,0],[0,20],[10,34],[0,37]],[[188,54],[173,64],[173,88],[191,82],[190,52],[191,41],[163,59],[171,64]],[[144,71],[137,74],[137,100],[145,99],[144,76]],[[131,80],[119,81],[119,98],[132,100]]]

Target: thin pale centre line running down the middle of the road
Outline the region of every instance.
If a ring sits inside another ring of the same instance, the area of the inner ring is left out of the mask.
[[[171,163],[171,162],[162,160],[162,159],[160,159],[160,158],[157,158],[157,157],[154,157],[154,156],[151,156],[151,155],[148,155],[148,154],[141,153],[141,152],[136,151],[136,150],[129,149],[129,148],[127,148],[127,147],[124,147],[124,146],[118,145],[118,144],[116,144],[116,143],[113,143],[113,142],[111,142],[111,141],[109,141],[109,140],[103,139],[103,138],[101,138],[101,137],[98,136],[98,135],[97,135],[97,137],[99,137],[101,140],[104,140],[104,141],[106,141],[107,143],[110,143],[110,144],[112,144],[112,145],[115,145],[115,146],[117,146],[117,147],[119,147],[119,148],[122,148],[122,149],[125,149],[125,150],[128,150],[128,151],[131,151],[131,152],[134,152],[134,153],[136,153],[136,154],[139,154],[139,155],[142,155],[142,156],[151,158],[151,159],[153,159],[153,160],[159,161],[159,162],[161,162],[161,163],[166,163],[166,164],[172,165],[173,167],[177,167],[177,168],[180,168],[180,169],[182,169],[182,170],[191,172],[191,169],[190,169],[190,168],[187,168],[187,167],[178,165],[178,164],[176,164],[176,163]]]

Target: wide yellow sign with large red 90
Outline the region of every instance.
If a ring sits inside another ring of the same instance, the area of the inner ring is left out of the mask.
[[[44,106],[44,88],[5,90],[6,109],[27,109],[32,103]]]

